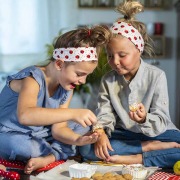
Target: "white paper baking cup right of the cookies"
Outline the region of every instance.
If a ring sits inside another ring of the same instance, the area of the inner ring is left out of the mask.
[[[122,174],[131,174],[133,179],[145,179],[148,170],[141,164],[127,165],[122,168]]]

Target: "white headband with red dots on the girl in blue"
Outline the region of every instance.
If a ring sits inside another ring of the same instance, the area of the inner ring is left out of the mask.
[[[97,61],[97,52],[95,47],[69,47],[59,48],[53,51],[54,59],[62,59],[69,62]]]

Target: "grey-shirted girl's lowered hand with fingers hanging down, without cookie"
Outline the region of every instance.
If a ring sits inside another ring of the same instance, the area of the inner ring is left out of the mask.
[[[108,150],[114,151],[105,132],[100,133],[97,142],[94,144],[95,155],[108,161],[110,158]]]

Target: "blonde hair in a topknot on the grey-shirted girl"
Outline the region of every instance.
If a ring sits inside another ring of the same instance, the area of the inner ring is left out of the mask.
[[[115,10],[124,15],[124,17],[118,18],[117,21],[130,23],[139,31],[144,39],[144,53],[152,57],[154,54],[152,47],[153,42],[147,34],[146,25],[143,22],[137,21],[135,18],[136,14],[144,11],[143,5],[138,1],[124,0]]]

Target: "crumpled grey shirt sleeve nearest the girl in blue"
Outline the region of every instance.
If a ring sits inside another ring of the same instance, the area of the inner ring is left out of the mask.
[[[111,132],[114,131],[117,115],[111,105],[108,87],[104,79],[102,79],[100,84],[97,106],[96,115],[98,124],[102,125],[106,133],[110,136]]]

